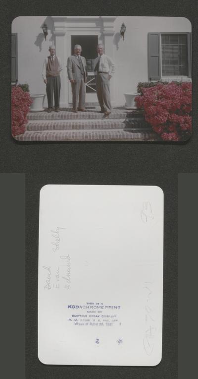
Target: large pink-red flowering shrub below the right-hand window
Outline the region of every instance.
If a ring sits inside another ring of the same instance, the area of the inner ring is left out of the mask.
[[[135,98],[137,107],[144,109],[146,121],[161,139],[188,139],[192,128],[192,83],[158,83],[142,91],[143,95]]]

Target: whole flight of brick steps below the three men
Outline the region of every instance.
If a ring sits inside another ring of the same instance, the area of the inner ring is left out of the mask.
[[[112,109],[109,116],[100,108],[86,112],[71,112],[71,108],[59,113],[30,112],[27,130],[15,136],[18,141],[154,141],[156,134],[145,123],[139,110],[123,107]]]

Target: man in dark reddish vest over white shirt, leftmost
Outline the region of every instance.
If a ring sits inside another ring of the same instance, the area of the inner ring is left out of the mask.
[[[60,71],[62,70],[61,62],[55,55],[55,48],[49,46],[49,57],[44,61],[42,76],[46,84],[46,92],[48,97],[48,112],[52,111],[53,94],[55,112],[59,112],[60,102]]]

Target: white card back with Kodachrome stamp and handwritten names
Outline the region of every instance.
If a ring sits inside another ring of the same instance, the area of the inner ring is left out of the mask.
[[[155,366],[162,353],[163,191],[47,185],[40,192],[38,357]]]

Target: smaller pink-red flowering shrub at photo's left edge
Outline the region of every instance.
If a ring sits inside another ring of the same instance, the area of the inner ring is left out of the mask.
[[[27,124],[26,116],[29,112],[32,100],[28,92],[24,92],[20,86],[12,87],[12,135],[22,134]]]

